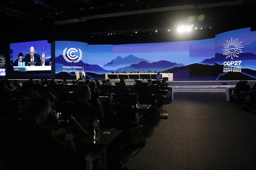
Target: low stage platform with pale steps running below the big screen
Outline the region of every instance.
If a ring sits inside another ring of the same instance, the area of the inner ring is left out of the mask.
[[[14,79],[9,79],[11,83],[14,82]],[[29,79],[17,79],[20,84],[24,81],[28,81]],[[34,79],[41,81],[40,79]],[[63,80],[55,80],[63,81]],[[73,80],[66,80],[68,84],[72,84]],[[79,82],[85,82],[85,80],[79,80]],[[100,84],[102,84],[102,80],[99,80]],[[115,82],[119,82],[117,80],[110,80],[111,85],[115,86]],[[142,80],[143,83],[147,83],[146,80]],[[175,92],[224,92],[226,88],[235,87],[238,80],[235,81],[167,81],[169,87],[173,87],[173,91]],[[134,80],[125,80],[126,85],[134,85]],[[227,83],[224,85],[223,83]],[[248,84],[253,87],[256,81],[248,81]]]

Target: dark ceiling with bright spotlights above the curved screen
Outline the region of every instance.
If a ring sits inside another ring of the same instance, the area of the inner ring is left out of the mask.
[[[0,40],[134,43],[212,38],[250,27],[253,7],[254,0],[1,0]],[[201,14],[202,21],[197,18]],[[203,30],[177,37],[181,24]],[[168,29],[172,35],[167,36]]]

